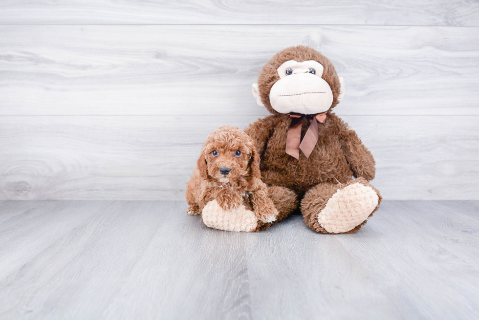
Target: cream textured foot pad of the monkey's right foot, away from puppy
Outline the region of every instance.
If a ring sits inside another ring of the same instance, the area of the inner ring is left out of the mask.
[[[318,213],[318,222],[328,233],[348,232],[364,222],[378,202],[374,189],[354,183],[329,198],[325,208]]]

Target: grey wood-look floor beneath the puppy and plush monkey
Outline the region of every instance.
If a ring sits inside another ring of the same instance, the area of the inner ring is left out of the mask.
[[[208,229],[182,201],[0,202],[0,319],[478,319],[479,201]]]

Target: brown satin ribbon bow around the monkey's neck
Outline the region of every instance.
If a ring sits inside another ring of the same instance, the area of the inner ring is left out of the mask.
[[[316,146],[319,139],[318,122],[326,122],[326,112],[316,114],[302,114],[291,112],[288,115],[291,117],[291,125],[288,129],[288,136],[286,138],[286,153],[296,159],[299,159],[299,150],[303,151],[306,158]],[[306,134],[301,141],[301,128],[303,127],[303,118],[306,117],[310,121],[310,125]]]

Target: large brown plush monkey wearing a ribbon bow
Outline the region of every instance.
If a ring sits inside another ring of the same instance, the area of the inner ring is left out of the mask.
[[[382,198],[369,183],[375,175],[370,151],[331,112],[344,95],[332,63],[310,47],[286,48],[263,66],[253,95],[271,113],[245,130],[279,210],[271,224],[299,206],[313,231],[357,232]]]

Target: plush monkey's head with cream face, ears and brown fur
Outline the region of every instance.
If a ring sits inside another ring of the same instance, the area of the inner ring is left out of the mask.
[[[295,57],[294,50],[298,51],[298,57]],[[344,95],[343,78],[337,77],[334,67],[326,57],[312,48],[303,46],[288,48],[283,52],[264,66],[259,85],[253,85],[253,95],[260,106],[266,104],[269,107],[269,104],[279,113],[316,114],[327,111],[333,103],[336,105],[341,101]],[[317,60],[301,59],[308,57],[307,54],[311,58],[326,62],[327,74],[325,66]],[[291,56],[296,59],[284,61],[286,57]],[[266,79],[268,76],[269,79]],[[331,86],[336,92],[333,92]]]

